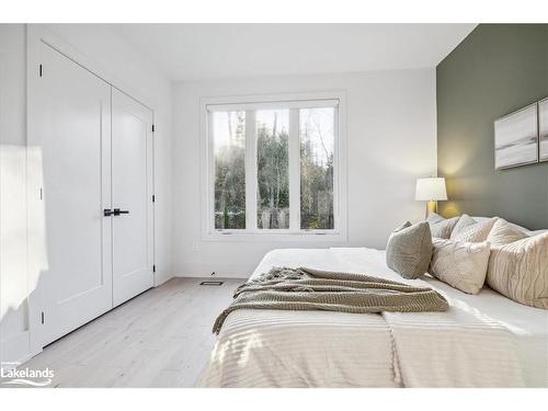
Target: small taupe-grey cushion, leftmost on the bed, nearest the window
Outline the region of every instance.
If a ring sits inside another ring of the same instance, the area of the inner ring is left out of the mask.
[[[387,265],[403,278],[419,278],[432,259],[432,236],[426,221],[398,227],[386,246]]]

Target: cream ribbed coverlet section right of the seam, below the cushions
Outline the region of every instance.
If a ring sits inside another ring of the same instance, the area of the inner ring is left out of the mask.
[[[383,312],[404,387],[525,387],[518,350],[500,321],[450,301],[439,315]]]

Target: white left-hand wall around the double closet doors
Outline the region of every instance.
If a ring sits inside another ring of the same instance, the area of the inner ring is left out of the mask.
[[[156,264],[157,283],[172,276],[171,232],[171,81],[133,50],[109,25],[47,24],[43,28],[78,54],[92,70],[155,110]],[[0,358],[30,355],[30,293],[25,273],[26,204],[26,43],[25,25],[0,24],[1,147],[1,322]],[[66,52],[64,49],[64,52]],[[69,55],[70,55],[69,53]],[[72,56],[71,56],[72,57]],[[78,60],[78,59],[77,59]],[[24,343],[24,344],[23,344]],[[26,344],[26,345],[25,345]]]

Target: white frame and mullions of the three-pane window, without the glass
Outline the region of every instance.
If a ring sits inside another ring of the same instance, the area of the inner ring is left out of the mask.
[[[202,239],[205,241],[347,241],[347,178],[346,178],[346,95],[344,91],[296,94],[202,98],[201,124],[201,187]],[[289,109],[289,198],[300,198],[300,152],[298,110],[335,106],[333,159],[334,228],[300,229],[300,204],[289,204],[289,229],[256,227],[256,139],[254,110]],[[210,112],[247,111],[246,113],[246,229],[215,228],[215,158]],[[251,114],[251,115],[250,115]],[[296,145],[292,149],[292,145]],[[253,170],[253,172],[249,172]],[[296,228],[296,229],[295,229]]]

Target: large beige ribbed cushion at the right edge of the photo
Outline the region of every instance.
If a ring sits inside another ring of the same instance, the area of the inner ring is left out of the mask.
[[[492,246],[487,283],[514,301],[548,309],[548,232]]]

